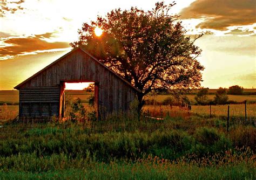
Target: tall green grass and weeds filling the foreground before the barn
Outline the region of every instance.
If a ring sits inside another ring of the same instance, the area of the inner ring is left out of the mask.
[[[0,140],[0,179],[255,179],[255,127],[166,121],[20,126]]]

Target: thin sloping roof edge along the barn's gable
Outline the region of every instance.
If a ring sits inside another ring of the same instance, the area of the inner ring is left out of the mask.
[[[120,75],[118,75],[117,73],[113,72],[109,67],[107,67],[106,65],[104,65],[102,62],[100,62],[97,58],[93,57],[89,52],[85,51],[84,49],[82,49],[81,47],[77,47],[75,49],[73,49],[72,51],[66,53],[64,56],[60,57],[59,59],[57,59],[56,61],[53,61],[50,65],[44,67],[42,70],[38,71],[36,74],[32,75],[30,78],[24,80],[23,82],[21,82],[20,84],[18,84],[17,86],[15,86],[15,89],[19,89],[19,87],[21,87],[23,84],[25,84],[26,82],[28,82],[29,80],[31,80],[32,78],[36,77],[38,74],[42,73],[43,71],[45,71],[46,69],[48,69],[49,67],[51,67],[52,65],[56,64],[58,61],[64,59],[66,56],[68,56],[69,54],[77,51],[77,50],[82,50],[82,52],[84,52],[85,54],[87,54],[88,56],[90,56],[93,60],[97,61],[97,63],[99,63],[101,66],[105,67],[107,70],[109,70],[111,73],[113,73],[114,75],[116,75],[118,78],[120,78],[121,80],[123,80],[127,85],[129,85],[130,87],[132,87],[133,89],[135,89],[138,92],[141,92],[139,89],[137,89],[136,87],[132,86],[130,84],[130,82],[126,81],[124,78],[120,77]]]

